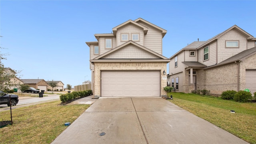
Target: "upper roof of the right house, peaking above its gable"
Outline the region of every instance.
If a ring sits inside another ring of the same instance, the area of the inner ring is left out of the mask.
[[[250,35],[248,32],[244,31],[242,28],[239,28],[238,26],[234,25],[230,28],[228,28],[227,30],[225,30],[224,32],[214,36],[213,38],[210,38],[209,40],[207,41],[196,41],[196,42],[192,42],[191,44],[189,44],[188,46],[182,48],[180,51],[176,52],[176,54],[172,55],[170,57],[173,58],[174,56],[176,56],[177,54],[179,54],[180,52],[182,52],[183,50],[188,50],[188,49],[191,49],[191,48],[194,48],[194,49],[199,49],[201,48],[202,46],[206,45],[206,44],[209,44],[211,43],[212,41],[220,38],[221,36],[223,36],[224,34],[226,34],[227,32],[229,32],[230,30],[236,30],[237,32],[239,32],[240,34],[242,34],[243,36],[245,36],[247,38],[247,40],[254,40],[256,38],[254,38],[252,35]]]

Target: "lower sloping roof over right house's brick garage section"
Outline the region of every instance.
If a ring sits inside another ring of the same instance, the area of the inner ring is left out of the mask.
[[[232,56],[232,57],[214,65],[214,66],[208,66],[207,68],[213,68],[213,67],[216,67],[216,66],[220,66],[220,65],[223,65],[223,64],[229,64],[231,62],[236,62],[236,61],[243,61],[246,58],[248,58],[249,56],[252,56],[254,54],[256,54],[256,47],[250,48],[248,50],[244,50],[244,51],[240,52],[239,54],[236,54],[236,55],[234,55],[234,56]],[[205,69],[207,69],[207,68],[205,68]]]

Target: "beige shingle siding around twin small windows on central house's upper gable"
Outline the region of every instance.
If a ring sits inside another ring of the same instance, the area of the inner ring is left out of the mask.
[[[121,40],[121,34],[128,34],[128,41],[132,40],[132,34],[139,34],[139,41],[134,41],[137,44],[140,44],[143,46],[144,43],[144,32],[143,29],[135,26],[134,24],[127,24],[126,26],[123,26],[121,28],[119,28],[116,32],[116,46],[120,46],[124,43],[126,43],[127,41],[122,41]]]

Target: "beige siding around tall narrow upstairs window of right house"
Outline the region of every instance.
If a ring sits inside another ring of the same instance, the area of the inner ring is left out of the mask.
[[[204,61],[204,48],[209,46],[209,59]],[[216,42],[212,42],[198,50],[198,62],[205,64],[206,66],[212,66],[216,64]]]

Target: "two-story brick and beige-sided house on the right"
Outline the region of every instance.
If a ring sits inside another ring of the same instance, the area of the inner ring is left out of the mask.
[[[176,92],[256,92],[256,38],[234,25],[207,41],[196,41],[170,57],[168,81]]]

